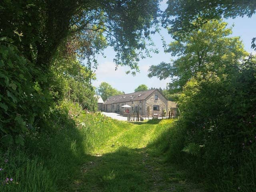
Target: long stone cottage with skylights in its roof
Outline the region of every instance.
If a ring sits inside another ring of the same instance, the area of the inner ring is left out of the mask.
[[[140,115],[162,115],[165,111],[168,114],[168,100],[157,89],[111,96],[102,104],[102,110],[120,113],[125,110],[122,106],[126,104],[131,106],[126,108],[129,113],[139,111]]]

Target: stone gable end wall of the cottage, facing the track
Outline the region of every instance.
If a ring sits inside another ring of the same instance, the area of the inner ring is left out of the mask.
[[[155,99],[155,95],[157,95],[158,99]],[[167,115],[167,111],[168,111],[168,104],[167,104],[167,100],[166,98],[164,98],[164,96],[162,96],[162,94],[160,94],[160,92],[158,90],[155,90],[151,96],[149,96],[146,99],[145,102],[146,105],[146,114],[152,115],[152,114],[158,114],[158,115],[162,115],[163,110],[166,110],[166,115]],[[153,110],[153,106],[157,105],[159,106],[159,110]],[[149,108],[149,109],[147,109]]]

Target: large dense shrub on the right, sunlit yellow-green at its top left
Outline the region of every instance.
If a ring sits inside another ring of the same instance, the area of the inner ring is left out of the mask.
[[[194,176],[204,175],[208,183],[215,180],[216,191],[252,191],[250,182],[255,184],[256,172],[250,169],[256,166],[255,63],[250,58],[224,74],[198,74],[180,96],[180,120],[188,133],[185,144],[203,146],[185,164]],[[241,167],[251,171],[245,173]]]

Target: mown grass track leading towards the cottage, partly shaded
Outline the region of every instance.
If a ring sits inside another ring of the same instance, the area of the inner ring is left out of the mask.
[[[70,192],[200,192],[181,171],[152,153],[147,144],[158,124],[128,124],[129,127],[95,148],[82,165]]]

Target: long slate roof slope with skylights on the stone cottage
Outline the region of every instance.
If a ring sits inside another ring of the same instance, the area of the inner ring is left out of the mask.
[[[144,100],[148,96],[150,96],[155,90],[156,89],[111,96],[103,104],[124,103],[130,101]]]

